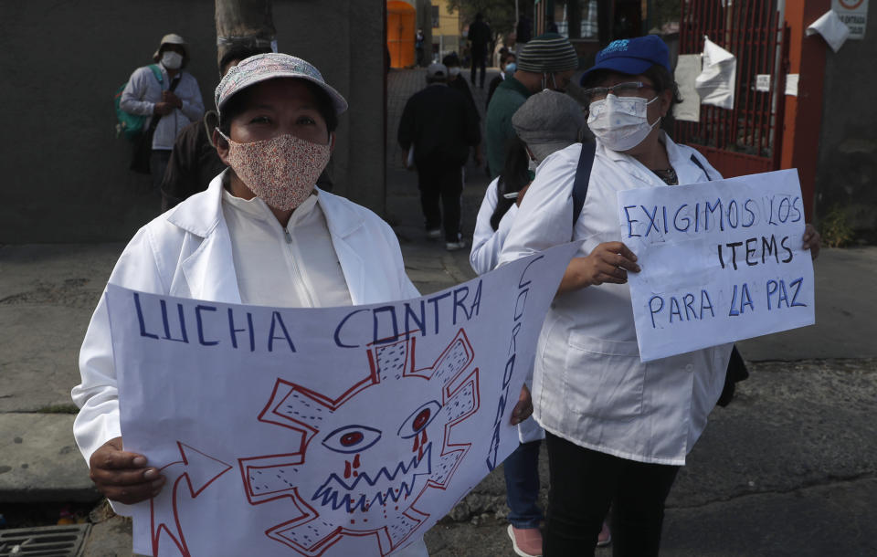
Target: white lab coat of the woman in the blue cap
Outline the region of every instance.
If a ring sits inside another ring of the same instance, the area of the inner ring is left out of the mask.
[[[680,184],[720,179],[695,151],[666,135]],[[576,257],[621,241],[616,193],[668,187],[629,155],[597,142],[585,205],[572,226],[572,188],[581,144],[555,152],[539,167],[505,240],[500,264],[570,240]],[[678,465],[706,426],[722,393],[731,344],[639,362],[630,290],[603,284],[557,296],[539,338],[534,416],[547,431],[581,447],[639,462]]]

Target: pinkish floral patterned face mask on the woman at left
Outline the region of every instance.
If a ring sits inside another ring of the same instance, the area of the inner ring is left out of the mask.
[[[289,211],[304,203],[329,163],[329,144],[306,142],[292,134],[260,142],[228,142],[228,163],[238,178],[266,204]]]

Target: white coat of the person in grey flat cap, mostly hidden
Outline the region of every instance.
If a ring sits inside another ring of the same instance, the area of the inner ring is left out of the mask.
[[[518,212],[517,205],[509,207],[509,210],[500,219],[500,226],[493,230],[491,216],[499,201],[499,194],[497,194],[499,183],[500,179],[497,177],[487,186],[484,199],[481,201],[481,208],[478,210],[478,217],[475,220],[475,233],[472,235],[472,251],[469,254],[469,263],[472,269],[479,275],[483,275],[496,267],[500,260],[502,243],[505,241],[506,236],[509,235],[509,231],[514,223],[514,215]],[[528,388],[533,389],[532,363],[530,365],[530,373],[527,375],[526,384]],[[522,443],[539,441],[545,438],[545,430],[530,417],[518,424],[518,438]]]

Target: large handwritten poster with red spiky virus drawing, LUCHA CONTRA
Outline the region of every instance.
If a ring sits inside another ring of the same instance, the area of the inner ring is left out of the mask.
[[[518,447],[509,424],[575,245],[453,289],[291,310],[110,286],[122,437],[167,478],[154,555],[386,555]]]

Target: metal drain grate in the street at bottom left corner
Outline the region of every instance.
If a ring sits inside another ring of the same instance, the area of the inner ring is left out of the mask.
[[[0,530],[0,557],[79,557],[90,524]]]

